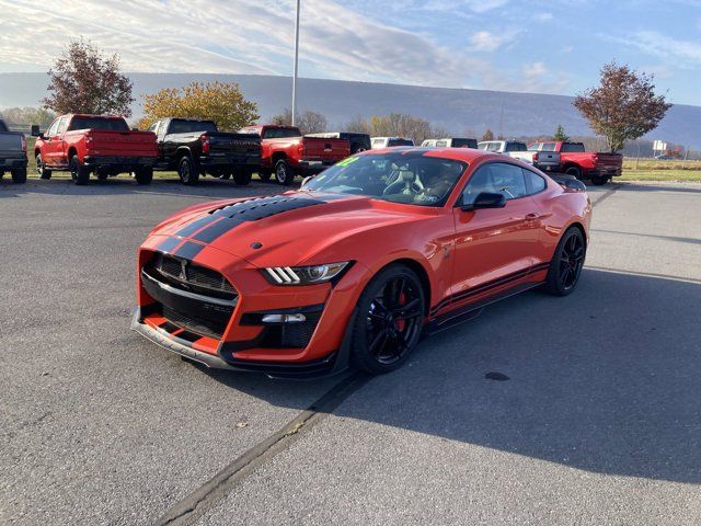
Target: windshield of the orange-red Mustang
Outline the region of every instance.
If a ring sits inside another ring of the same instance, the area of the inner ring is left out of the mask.
[[[467,168],[464,162],[424,157],[423,152],[353,156],[317,175],[302,190],[443,206]]]

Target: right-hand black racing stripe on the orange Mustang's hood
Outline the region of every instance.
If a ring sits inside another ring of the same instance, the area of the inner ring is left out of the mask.
[[[324,203],[326,202],[322,199],[288,195],[275,195],[242,201],[210,211],[209,218],[216,222],[197,232],[193,239],[210,243],[219,236],[225,235],[244,222],[257,221],[266,217],[306,208],[308,206],[323,205]]]

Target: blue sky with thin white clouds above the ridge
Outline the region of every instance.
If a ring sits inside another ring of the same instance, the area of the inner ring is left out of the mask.
[[[292,0],[0,0],[0,72],[84,37],[125,71],[291,75]],[[301,0],[300,77],[573,95],[612,59],[701,105],[701,0]]]

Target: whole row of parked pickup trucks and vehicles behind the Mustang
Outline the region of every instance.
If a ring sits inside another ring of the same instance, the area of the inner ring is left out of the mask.
[[[403,137],[324,133],[302,136],[299,128],[281,125],[246,126],[238,133],[219,132],[211,121],[162,118],[148,130],[130,129],[124,117],[69,114],[57,117],[38,134],[27,152],[23,134],[10,132],[0,121],[0,176],[26,181],[27,155],[36,159],[41,179],[68,171],[76,184],[91,174],[104,180],[133,173],[138,184],[149,184],[154,170],[174,170],[184,184],[205,174],[248,184],[252,174],[291,184],[297,175],[313,175],[346,157],[376,148],[414,146]],[[544,171],[564,172],[605,184],[621,174],[622,157],[585,151],[582,142],[538,141],[527,146],[514,140],[476,142],[470,138],[427,139],[422,147],[479,148],[503,153]]]

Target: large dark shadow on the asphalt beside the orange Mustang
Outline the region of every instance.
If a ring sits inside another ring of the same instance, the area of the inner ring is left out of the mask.
[[[701,483],[699,312],[699,284],[587,270],[570,297],[521,295],[425,340],[334,414],[591,472]],[[207,374],[263,397],[275,381]],[[286,386],[300,385],[281,382],[266,401],[285,405]]]

